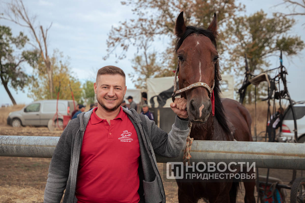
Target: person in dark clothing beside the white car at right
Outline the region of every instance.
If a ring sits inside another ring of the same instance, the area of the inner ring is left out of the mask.
[[[284,109],[282,107],[271,116],[271,120],[267,124],[267,132],[269,135],[269,142],[274,142],[275,140],[275,129],[282,126]]]

